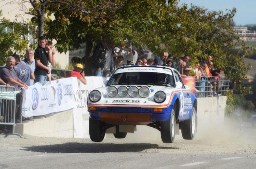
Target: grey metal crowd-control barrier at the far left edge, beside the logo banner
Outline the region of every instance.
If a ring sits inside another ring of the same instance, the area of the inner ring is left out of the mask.
[[[0,85],[0,92],[14,92],[15,87],[10,86],[7,88],[6,86]],[[7,133],[7,135],[19,135],[15,133],[15,116],[16,116],[16,100],[7,99],[0,97],[0,125],[11,125],[12,133]]]

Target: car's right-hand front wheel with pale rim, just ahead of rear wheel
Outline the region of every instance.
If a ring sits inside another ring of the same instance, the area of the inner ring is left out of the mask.
[[[161,138],[163,143],[173,143],[175,138],[175,123],[175,110],[172,109],[169,120],[160,123]]]

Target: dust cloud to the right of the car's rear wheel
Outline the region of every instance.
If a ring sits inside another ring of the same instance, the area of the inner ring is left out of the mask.
[[[195,140],[208,143],[256,143],[256,128],[241,115],[223,117],[218,115],[198,117],[198,132]]]

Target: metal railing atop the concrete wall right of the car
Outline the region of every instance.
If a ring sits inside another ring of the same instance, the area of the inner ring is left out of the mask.
[[[223,95],[229,89],[230,80],[225,77],[211,76],[201,77],[195,81],[196,97],[213,97]]]

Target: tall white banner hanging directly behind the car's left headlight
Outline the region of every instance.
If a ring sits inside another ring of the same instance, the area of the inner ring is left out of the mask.
[[[89,112],[87,109],[87,97],[93,89],[105,86],[106,78],[88,76],[86,77],[87,84],[84,85],[76,77],[73,77],[74,89],[74,137],[75,138],[90,138],[89,136]]]

